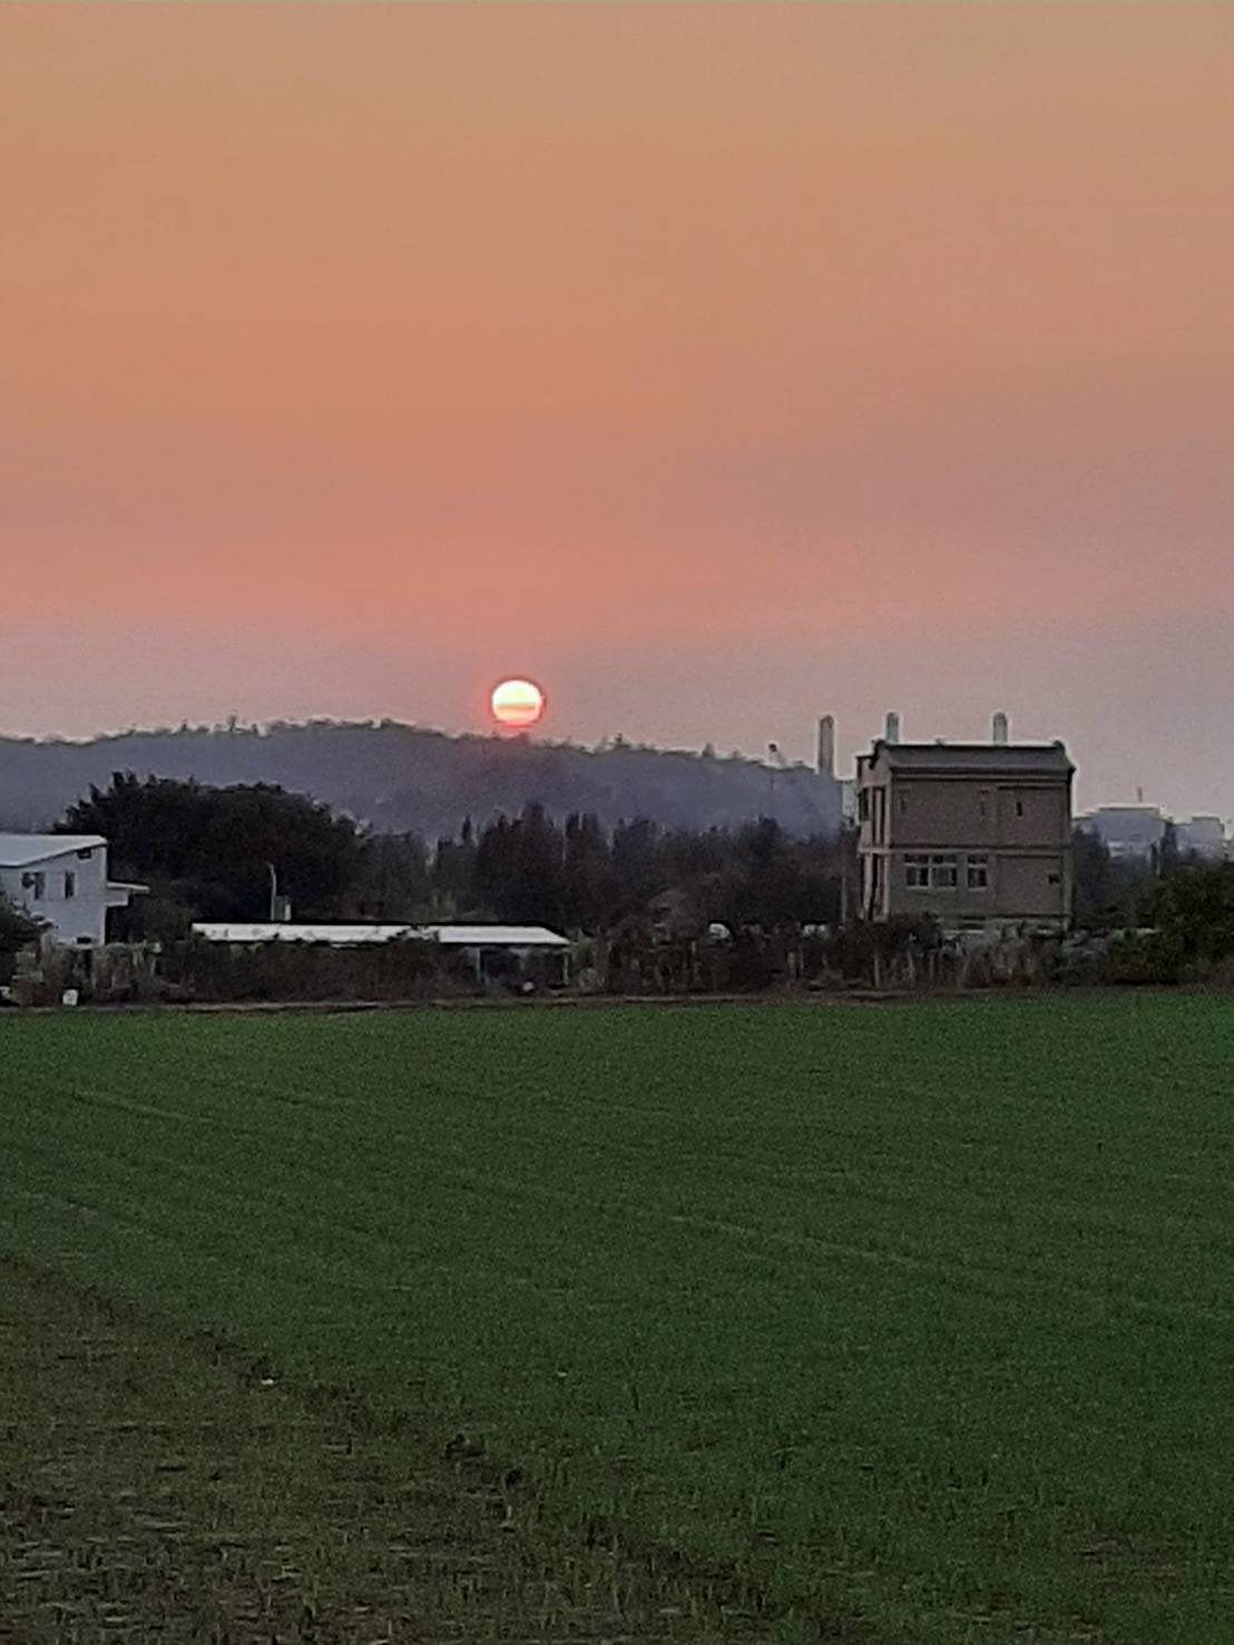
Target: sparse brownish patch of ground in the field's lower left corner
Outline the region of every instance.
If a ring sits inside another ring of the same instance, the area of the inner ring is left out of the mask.
[[[0,1410],[13,1645],[755,1645],[775,1617],[735,1568],[569,1531],[518,1469],[3,1257]]]

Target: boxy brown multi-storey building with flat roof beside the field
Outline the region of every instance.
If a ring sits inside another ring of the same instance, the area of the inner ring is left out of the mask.
[[[1061,742],[900,742],[857,757],[861,906],[944,929],[1058,929],[1071,918],[1071,778]]]

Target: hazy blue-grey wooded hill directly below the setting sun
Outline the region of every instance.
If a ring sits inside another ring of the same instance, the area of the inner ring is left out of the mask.
[[[592,811],[605,826],[740,826],[773,816],[793,834],[831,832],[839,785],[806,767],[619,744],[582,748],[530,739],[316,721],[267,729],[125,732],[94,742],[0,739],[0,827],[39,827],[114,772],[202,783],[278,783],[382,832],[452,834],[540,801],[553,816]]]

